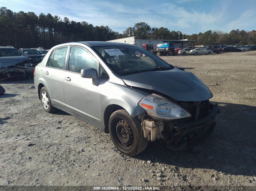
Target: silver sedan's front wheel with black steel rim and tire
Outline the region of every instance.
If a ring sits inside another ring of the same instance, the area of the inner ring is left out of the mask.
[[[127,156],[141,153],[148,145],[141,132],[141,122],[126,110],[117,110],[109,118],[108,129],[115,147]]]

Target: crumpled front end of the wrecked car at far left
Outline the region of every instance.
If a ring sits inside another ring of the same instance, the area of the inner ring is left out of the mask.
[[[28,59],[18,63],[0,63],[0,81],[16,77],[32,78],[34,67]]]

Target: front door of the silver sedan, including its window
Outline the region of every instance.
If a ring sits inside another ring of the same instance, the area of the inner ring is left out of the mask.
[[[64,76],[66,109],[100,124],[100,86],[82,78],[82,68],[98,68],[98,61],[85,48],[71,46]]]

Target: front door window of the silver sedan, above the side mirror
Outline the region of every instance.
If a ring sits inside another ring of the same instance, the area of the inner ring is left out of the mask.
[[[91,56],[85,49],[71,46],[69,61],[68,61],[68,70],[71,72],[81,72],[82,68],[94,68],[97,70],[98,61]]]

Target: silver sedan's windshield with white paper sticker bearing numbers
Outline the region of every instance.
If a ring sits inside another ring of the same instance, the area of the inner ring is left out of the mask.
[[[174,68],[138,46],[99,46],[94,49],[118,75]]]

